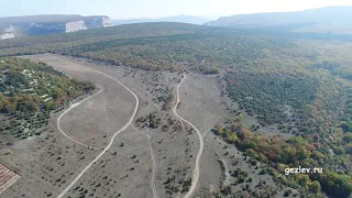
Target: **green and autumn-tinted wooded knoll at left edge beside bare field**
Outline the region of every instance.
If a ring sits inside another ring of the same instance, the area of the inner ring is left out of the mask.
[[[45,63],[13,57],[0,58],[0,133],[19,139],[40,134],[52,111],[95,89]]]

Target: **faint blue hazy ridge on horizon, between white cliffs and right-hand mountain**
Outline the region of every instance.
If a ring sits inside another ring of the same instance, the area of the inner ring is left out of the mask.
[[[179,22],[179,23],[190,23],[190,24],[201,25],[211,20],[204,16],[180,14],[180,15],[158,18],[158,19],[112,20],[112,23],[114,25],[120,25],[120,24],[145,23],[145,22]]]

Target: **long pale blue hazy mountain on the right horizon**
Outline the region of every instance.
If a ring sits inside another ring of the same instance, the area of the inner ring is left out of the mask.
[[[352,7],[326,7],[294,12],[272,12],[238,14],[221,16],[216,21],[207,22],[209,26],[234,26],[234,28],[271,28],[283,25],[296,25],[294,32],[318,33],[352,33]],[[300,24],[305,24],[300,26]]]

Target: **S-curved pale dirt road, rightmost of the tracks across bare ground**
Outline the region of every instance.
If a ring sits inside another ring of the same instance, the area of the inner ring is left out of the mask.
[[[182,121],[188,123],[191,128],[194,128],[196,130],[197,134],[198,134],[198,138],[199,138],[199,152],[198,152],[198,155],[197,155],[197,158],[196,158],[195,170],[194,170],[194,175],[193,175],[193,178],[191,178],[191,187],[189,188],[188,193],[185,195],[185,198],[189,198],[194,194],[194,191],[196,190],[197,184],[198,184],[198,180],[199,180],[199,162],[200,162],[200,156],[201,156],[202,150],[204,150],[204,141],[202,141],[202,135],[199,132],[199,130],[193,123],[190,123],[186,119],[182,118],[176,111],[177,110],[177,106],[179,103],[179,90],[178,89],[179,89],[179,86],[184,82],[184,80],[186,78],[187,78],[186,73],[184,73],[184,78],[177,85],[177,89],[176,89],[177,101],[176,101],[176,105],[175,105],[175,107],[173,109],[173,112],[178,119],[180,119]]]

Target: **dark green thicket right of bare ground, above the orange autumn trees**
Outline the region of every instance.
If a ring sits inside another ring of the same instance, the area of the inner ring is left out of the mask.
[[[255,116],[261,125],[292,123],[300,132],[304,127],[314,133],[308,123],[309,109],[319,88],[318,79],[278,74],[232,74],[226,77],[228,96],[249,116]],[[289,107],[290,112],[285,112]],[[283,130],[283,128],[280,128]]]

